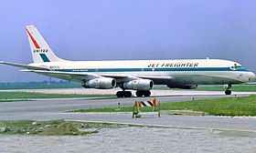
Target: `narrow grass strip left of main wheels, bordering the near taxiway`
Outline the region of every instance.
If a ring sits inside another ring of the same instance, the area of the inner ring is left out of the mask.
[[[60,98],[60,97],[114,97],[114,95],[43,94],[32,92],[0,92],[2,102],[18,98]],[[1,102],[1,101],[0,101]]]

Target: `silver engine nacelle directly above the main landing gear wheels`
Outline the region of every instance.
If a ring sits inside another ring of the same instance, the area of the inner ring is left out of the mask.
[[[133,90],[150,90],[154,86],[154,82],[150,79],[137,79],[129,82],[123,83],[124,89],[133,89]]]

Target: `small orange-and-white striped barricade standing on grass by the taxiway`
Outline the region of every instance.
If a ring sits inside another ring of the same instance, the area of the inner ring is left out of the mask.
[[[142,107],[152,107],[152,112],[142,112]],[[157,105],[155,98],[152,101],[135,101],[133,117],[141,117],[142,115],[151,115],[152,117],[158,115],[160,117],[160,102]]]

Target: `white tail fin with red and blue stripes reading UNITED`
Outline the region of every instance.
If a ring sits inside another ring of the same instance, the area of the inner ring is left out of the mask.
[[[34,63],[65,61],[55,56],[35,26],[26,26],[26,31]]]

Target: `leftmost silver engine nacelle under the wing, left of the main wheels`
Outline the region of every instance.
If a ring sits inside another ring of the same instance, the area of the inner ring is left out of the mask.
[[[82,83],[82,87],[85,87],[85,88],[109,89],[115,86],[116,86],[115,79],[109,78],[109,77],[94,78]]]

